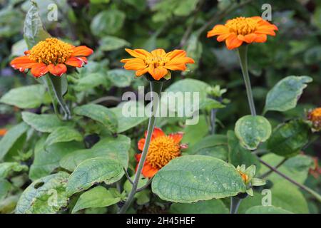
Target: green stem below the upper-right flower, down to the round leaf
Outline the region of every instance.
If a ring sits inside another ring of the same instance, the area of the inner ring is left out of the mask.
[[[248,45],[242,45],[238,48],[238,58],[240,60],[246,93],[248,94],[248,104],[250,105],[251,115],[256,115],[250,76],[248,75]]]

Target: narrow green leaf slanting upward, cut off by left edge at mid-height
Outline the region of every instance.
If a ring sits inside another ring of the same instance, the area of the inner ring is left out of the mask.
[[[14,147],[15,143],[21,138],[24,133],[29,129],[29,126],[26,123],[19,123],[19,125],[11,128],[6,135],[0,140],[0,160],[9,153],[11,148]]]

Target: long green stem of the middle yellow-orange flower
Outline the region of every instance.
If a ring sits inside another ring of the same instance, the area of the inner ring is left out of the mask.
[[[145,145],[143,147],[143,152],[141,153],[141,160],[138,163],[138,168],[136,171],[135,179],[133,180],[133,187],[131,189],[131,192],[128,195],[128,198],[127,198],[125,204],[123,204],[123,207],[121,207],[119,214],[124,214],[127,211],[128,207],[133,202],[134,196],[136,195],[138,182],[141,179],[141,172],[143,170],[143,165],[146,160],[149,144],[151,142],[151,136],[153,134],[153,130],[154,130],[155,123],[156,123],[156,112],[158,109],[159,99],[161,98],[161,90],[163,88],[163,82],[151,81],[150,84],[151,84],[151,92],[152,92],[151,93],[151,117],[149,118],[149,122],[148,122],[148,129],[147,129]],[[154,95],[156,95],[156,96],[154,96]]]

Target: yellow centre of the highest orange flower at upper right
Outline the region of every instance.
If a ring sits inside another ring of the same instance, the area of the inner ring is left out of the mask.
[[[257,21],[242,16],[228,21],[225,26],[230,29],[230,32],[245,36],[255,31]]]

